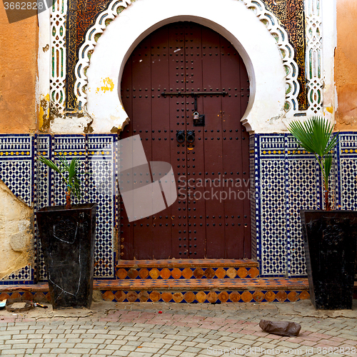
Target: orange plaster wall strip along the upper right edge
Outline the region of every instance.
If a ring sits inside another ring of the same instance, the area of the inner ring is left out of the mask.
[[[357,130],[357,1],[337,0],[336,129]]]

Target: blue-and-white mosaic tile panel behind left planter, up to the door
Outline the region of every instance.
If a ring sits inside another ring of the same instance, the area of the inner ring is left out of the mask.
[[[81,160],[79,178],[82,182],[81,200],[74,198],[73,204],[84,202],[98,203],[96,213],[96,247],[94,276],[96,278],[114,278],[114,217],[115,197],[111,178],[114,172],[114,152],[112,144],[116,135],[56,135],[39,136],[37,151],[46,157],[59,162],[63,153],[67,160]],[[106,149],[104,156],[101,151]],[[105,157],[105,161],[103,158]],[[63,205],[66,203],[66,186],[56,172],[49,171],[43,164],[37,164],[36,208],[48,205]],[[96,188],[96,178],[101,177],[101,183],[106,187]],[[50,188],[50,190],[49,190]],[[39,240],[38,240],[39,241]],[[37,275],[40,281],[46,280],[41,246],[37,248]]]

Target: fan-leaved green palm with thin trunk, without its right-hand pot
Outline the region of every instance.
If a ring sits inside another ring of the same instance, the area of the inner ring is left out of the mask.
[[[306,151],[314,154],[323,176],[325,209],[331,211],[331,203],[328,199],[328,176],[331,172],[331,151],[337,145],[338,134],[331,136],[333,125],[321,116],[312,116],[307,121],[292,121],[288,131],[293,134],[298,145]]]

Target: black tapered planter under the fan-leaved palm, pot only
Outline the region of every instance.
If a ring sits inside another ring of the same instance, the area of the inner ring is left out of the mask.
[[[313,306],[351,309],[356,264],[356,211],[300,211]]]

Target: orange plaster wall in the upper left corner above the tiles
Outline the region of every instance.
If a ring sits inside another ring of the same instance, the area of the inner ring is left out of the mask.
[[[37,17],[9,24],[0,1],[0,134],[36,130]]]

